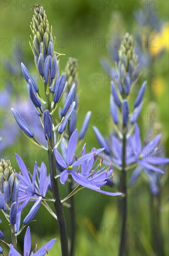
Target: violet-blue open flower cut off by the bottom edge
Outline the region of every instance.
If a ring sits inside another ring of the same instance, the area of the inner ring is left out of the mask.
[[[46,253],[48,254],[48,251],[53,247],[55,242],[56,242],[56,239],[52,239],[48,243],[46,243],[41,249],[37,250],[37,246],[36,246],[36,248],[31,252],[31,232],[30,232],[30,227],[27,227],[25,238],[24,238],[24,253],[22,255],[44,256]],[[9,256],[21,256],[21,254],[13,247],[12,244],[10,244],[9,247],[10,247]]]

